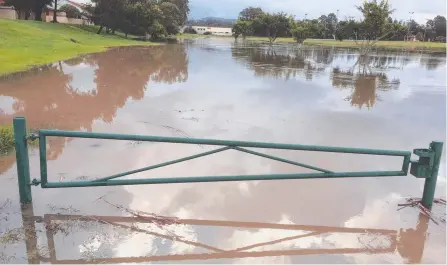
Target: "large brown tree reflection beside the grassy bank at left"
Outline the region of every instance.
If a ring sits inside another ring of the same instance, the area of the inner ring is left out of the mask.
[[[95,71],[96,90],[84,93],[70,85],[74,77],[67,71],[70,65],[81,63]],[[129,98],[142,99],[150,80],[184,82],[187,65],[182,46],[160,46],[119,48],[72,59],[68,64],[45,66],[38,74],[25,73],[17,80],[0,82],[0,96],[15,100],[13,114],[0,113],[0,124],[11,124],[13,117],[24,116],[31,128],[91,131],[94,120],[111,122]],[[48,144],[48,159],[55,159],[65,139],[50,137]]]

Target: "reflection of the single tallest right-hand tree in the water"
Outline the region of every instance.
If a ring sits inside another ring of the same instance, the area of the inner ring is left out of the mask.
[[[389,64],[387,57],[360,56],[354,66],[348,71],[339,68],[332,70],[332,86],[341,89],[352,89],[352,94],[346,99],[352,106],[360,109],[365,105],[368,109],[379,99],[377,90],[388,91],[398,89],[398,79],[389,80],[385,73],[374,73],[372,67],[384,67]],[[372,67],[371,67],[372,66]]]

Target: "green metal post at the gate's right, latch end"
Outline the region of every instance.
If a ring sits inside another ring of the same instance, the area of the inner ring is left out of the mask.
[[[430,172],[430,177],[425,179],[424,193],[422,195],[422,205],[431,209],[433,206],[433,198],[435,197],[436,181],[438,180],[439,165],[441,163],[443,142],[431,142],[430,149],[435,152],[433,158],[433,167]]]

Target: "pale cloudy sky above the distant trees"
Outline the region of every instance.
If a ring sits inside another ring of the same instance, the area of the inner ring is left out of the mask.
[[[408,20],[410,16],[418,23],[425,23],[436,15],[446,15],[445,0],[389,0],[396,11],[393,18]],[[297,19],[319,17],[323,14],[337,13],[339,18],[353,16],[360,19],[361,14],[355,6],[362,0],[190,0],[190,18],[203,17],[237,18],[239,12],[248,6],[261,7],[267,12],[284,11],[293,14]],[[414,12],[410,14],[409,12]]]

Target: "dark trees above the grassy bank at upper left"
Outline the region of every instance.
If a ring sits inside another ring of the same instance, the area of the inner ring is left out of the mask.
[[[41,20],[44,9],[54,4],[68,17],[88,17],[100,26],[98,34],[105,28],[107,32],[120,30],[126,37],[133,34],[152,39],[176,34],[189,14],[189,0],[92,0],[82,13],[68,5],[58,9],[57,0],[5,0],[5,4],[14,6],[19,18],[28,19],[32,12],[36,20]]]

